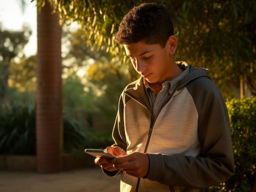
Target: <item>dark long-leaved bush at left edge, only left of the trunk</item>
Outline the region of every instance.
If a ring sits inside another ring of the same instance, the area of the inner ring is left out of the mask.
[[[32,104],[0,108],[0,154],[35,154],[36,113]]]

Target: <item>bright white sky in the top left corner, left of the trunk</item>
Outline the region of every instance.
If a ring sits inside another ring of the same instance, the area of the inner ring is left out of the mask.
[[[27,56],[37,53],[37,9],[36,0],[25,0],[27,2],[25,11],[22,13],[21,0],[0,0],[0,22],[2,27],[7,30],[19,31],[22,30],[24,23],[29,24],[32,35],[28,44],[25,46]]]

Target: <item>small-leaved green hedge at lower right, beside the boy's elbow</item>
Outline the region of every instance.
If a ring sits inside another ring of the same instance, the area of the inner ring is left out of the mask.
[[[211,191],[256,190],[256,97],[227,99],[236,173]]]

